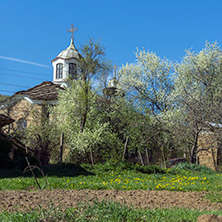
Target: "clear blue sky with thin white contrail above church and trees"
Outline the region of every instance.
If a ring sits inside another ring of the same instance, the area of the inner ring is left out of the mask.
[[[0,93],[6,95],[52,80],[51,60],[70,44],[71,24],[78,28],[77,48],[89,37],[100,39],[119,67],[135,62],[136,48],[180,61],[205,41],[222,44],[221,0],[2,0],[0,8]]]

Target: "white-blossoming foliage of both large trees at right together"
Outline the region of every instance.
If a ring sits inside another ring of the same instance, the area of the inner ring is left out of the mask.
[[[132,124],[131,135],[137,137],[137,129],[143,132],[145,125],[149,133],[138,134],[139,141],[146,138],[149,150],[159,150],[163,162],[186,153],[195,163],[199,134],[204,130],[214,132],[215,138],[222,135],[221,67],[217,43],[206,43],[200,52],[188,50],[175,64],[137,50],[136,62],[123,66],[120,79],[128,101],[146,116],[137,127]]]

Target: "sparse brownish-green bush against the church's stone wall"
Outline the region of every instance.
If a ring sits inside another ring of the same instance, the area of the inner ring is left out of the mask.
[[[42,106],[42,109],[33,109],[31,116],[32,124],[18,131],[17,136],[21,137],[28,147],[39,153],[40,161],[42,159],[47,163],[50,158],[52,162],[57,162],[61,132],[53,115],[53,107]]]

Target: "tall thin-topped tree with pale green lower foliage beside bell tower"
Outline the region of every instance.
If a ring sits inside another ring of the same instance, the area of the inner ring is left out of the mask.
[[[70,81],[69,87],[60,92],[54,113],[65,133],[71,159],[76,153],[90,153],[93,164],[96,147],[102,146],[106,136],[115,137],[110,134],[108,123],[101,121],[97,109],[98,95],[92,88],[97,76],[109,73],[110,62],[105,59],[104,48],[93,39],[81,47],[81,52],[82,74],[79,80]]]

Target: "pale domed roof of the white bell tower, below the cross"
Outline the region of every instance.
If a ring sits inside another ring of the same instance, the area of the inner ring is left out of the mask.
[[[73,42],[73,38],[71,38],[71,43],[69,45],[68,48],[64,49],[62,52],[59,53],[59,55],[52,60],[55,61],[57,59],[77,59],[79,60],[80,58],[82,58],[82,55],[78,52],[78,50],[76,49],[74,42]]]

